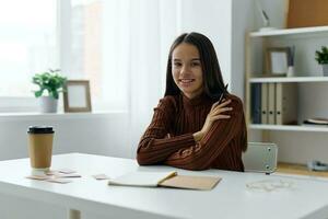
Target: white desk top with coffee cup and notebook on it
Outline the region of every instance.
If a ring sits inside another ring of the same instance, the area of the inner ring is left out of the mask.
[[[68,209],[87,210],[108,218],[327,218],[328,181],[304,180],[219,170],[180,174],[219,175],[212,191],[108,186],[91,175],[115,177],[141,169],[167,171],[168,166],[138,166],[134,160],[81,153],[54,155],[51,169],[72,169],[82,174],[69,184],[25,178],[30,160],[0,162],[0,193],[32,198]],[[261,180],[292,182],[290,188],[272,192],[249,189],[247,183]]]

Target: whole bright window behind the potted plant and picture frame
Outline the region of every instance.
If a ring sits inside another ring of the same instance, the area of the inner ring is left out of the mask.
[[[103,68],[103,1],[0,3],[0,112],[37,111],[31,80],[49,68],[60,68],[71,80],[90,80],[95,110],[116,104],[108,103],[115,100],[108,97],[112,79]],[[121,110],[116,105],[110,108]]]

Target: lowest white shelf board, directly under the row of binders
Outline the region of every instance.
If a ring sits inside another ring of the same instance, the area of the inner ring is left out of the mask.
[[[316,125],[267,125],[267,124],[250,124],[250,129],[257,130],[292,130],[292,131],[318,131],[328,132],[328,126]]]

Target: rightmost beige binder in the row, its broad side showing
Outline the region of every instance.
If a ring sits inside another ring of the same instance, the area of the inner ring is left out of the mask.
[[[297,84],[277,83],[276,94],[277,124],[297,124]]]

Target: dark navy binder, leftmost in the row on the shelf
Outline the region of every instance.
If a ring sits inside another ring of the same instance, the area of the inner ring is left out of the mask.
[[[261,123],[261,83],[251,84],[251,123]]]

